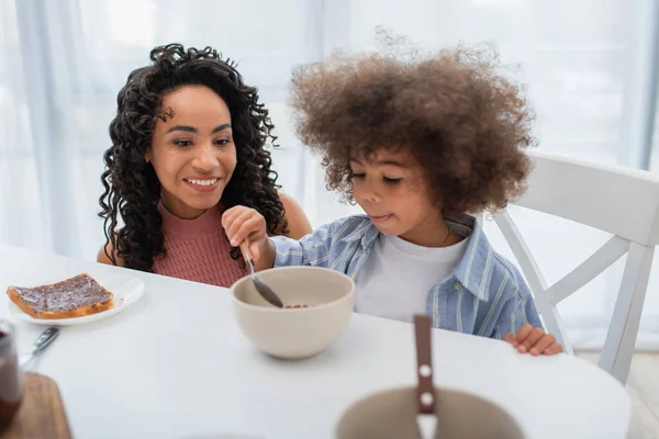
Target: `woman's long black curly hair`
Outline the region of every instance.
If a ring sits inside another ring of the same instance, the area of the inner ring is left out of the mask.
[[[163,94],[187,85],[209,87],[231,112],[237,165],[224,189],[223,205],[253,207],[265,216],[269,233],[283,233],[287,223],[277,193],[277,173],[270,170],[270,153],[265,149],[268,142],[276,146],[277,138],[268,110],[258,101],[258,90],[246,86],[234,63],[211,47],[185,49],[169,44],[154,48],[150,60],[147,67],[129,75],[116,97],[116,116],[110,123],[112,146],[103,156],[104,192],[99,199],[105,239],[115,254],[105,250],[107,256],[114,264],[116,256],[127,268],[150,271],[154,257],[165,252],[163,218],[157,209],[160,183],[144,155],[152,145]],[[234,259],[238,259],[238,251],[232,249]]]

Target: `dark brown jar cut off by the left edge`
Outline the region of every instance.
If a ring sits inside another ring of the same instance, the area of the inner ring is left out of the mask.
[[[0,320],[0,434],[7,430],[21,405],[21,371],[12,324]]]

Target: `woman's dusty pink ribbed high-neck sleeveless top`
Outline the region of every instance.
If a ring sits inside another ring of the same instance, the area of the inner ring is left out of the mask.
[[[154,258],[158,274],[231,286],[247,274],[241,260],[228,254],[231,245],[222,227],[222,207],[209,209],[194,219],[181,219],[158,203],[163,216],[163,234],[167,255]]]

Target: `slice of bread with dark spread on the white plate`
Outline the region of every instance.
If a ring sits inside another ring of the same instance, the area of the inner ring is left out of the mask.
[[[82,317],[114,306],[113,294],[87,273],[47,285],[8,286],[7,295],[34,318]]]

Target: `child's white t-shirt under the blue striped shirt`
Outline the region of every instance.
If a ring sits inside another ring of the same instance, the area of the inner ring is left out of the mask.
[[[468,241],[431,248],[380,234],[355,280],[356,311],[402,322],[426,314],[428,291],[455,270]]]

